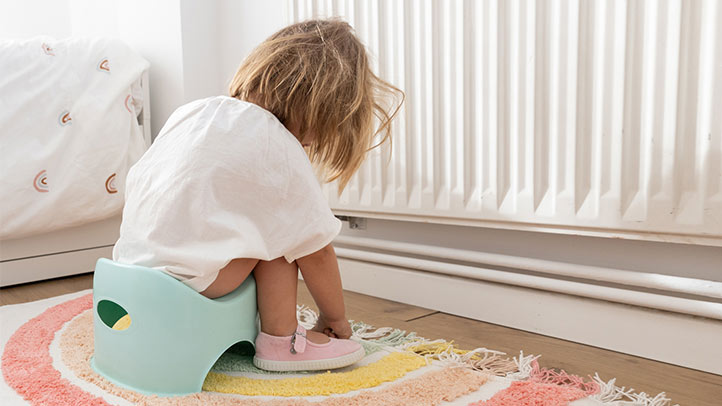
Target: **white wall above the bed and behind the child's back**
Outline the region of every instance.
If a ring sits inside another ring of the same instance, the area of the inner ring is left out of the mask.
[[[285,1],[29,0],[0,4],[0,39],[120,38],[151,63],[153,137],[178,106],[227,94],[241,60],[282,25]]]

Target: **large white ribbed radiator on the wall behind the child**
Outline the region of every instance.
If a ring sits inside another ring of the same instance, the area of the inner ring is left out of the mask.
[[[337,214],[722,246],[722,4],[289,0],[407,101]]]

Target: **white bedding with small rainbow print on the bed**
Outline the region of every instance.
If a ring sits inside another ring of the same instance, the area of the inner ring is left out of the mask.
[[[0,239],[120,213],[148,66],[118,40],[0,41]]]

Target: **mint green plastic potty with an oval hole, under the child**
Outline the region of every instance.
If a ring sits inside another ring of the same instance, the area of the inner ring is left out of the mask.
[[[130,326],[113,330],[108,324],[115,324],[123,309]],[[93,277],[90,363],[111,382],[136,392],[200,392],[208,371],[230,346],[240,341],[255,346],[256,316],[252,274],[233,292],[208,299],[162,271],[101,258]]]

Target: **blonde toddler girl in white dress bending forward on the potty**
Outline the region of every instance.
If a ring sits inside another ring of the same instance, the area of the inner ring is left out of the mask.
[[[211,299],[253,273],[257,367],[353,364],[364,350],[349,340],[331,246],[341,222],[312,163],[326,181],[339,180],[340,194],[380,145],[374,136],[390,141],[401,102],[403,93],[371,72],[348,24],[280,30],[243,62],[230,97],[178,108],[131,168],[113,259],[166,272]],[[296,320],[299,268],[319,308],[311,331]]]

